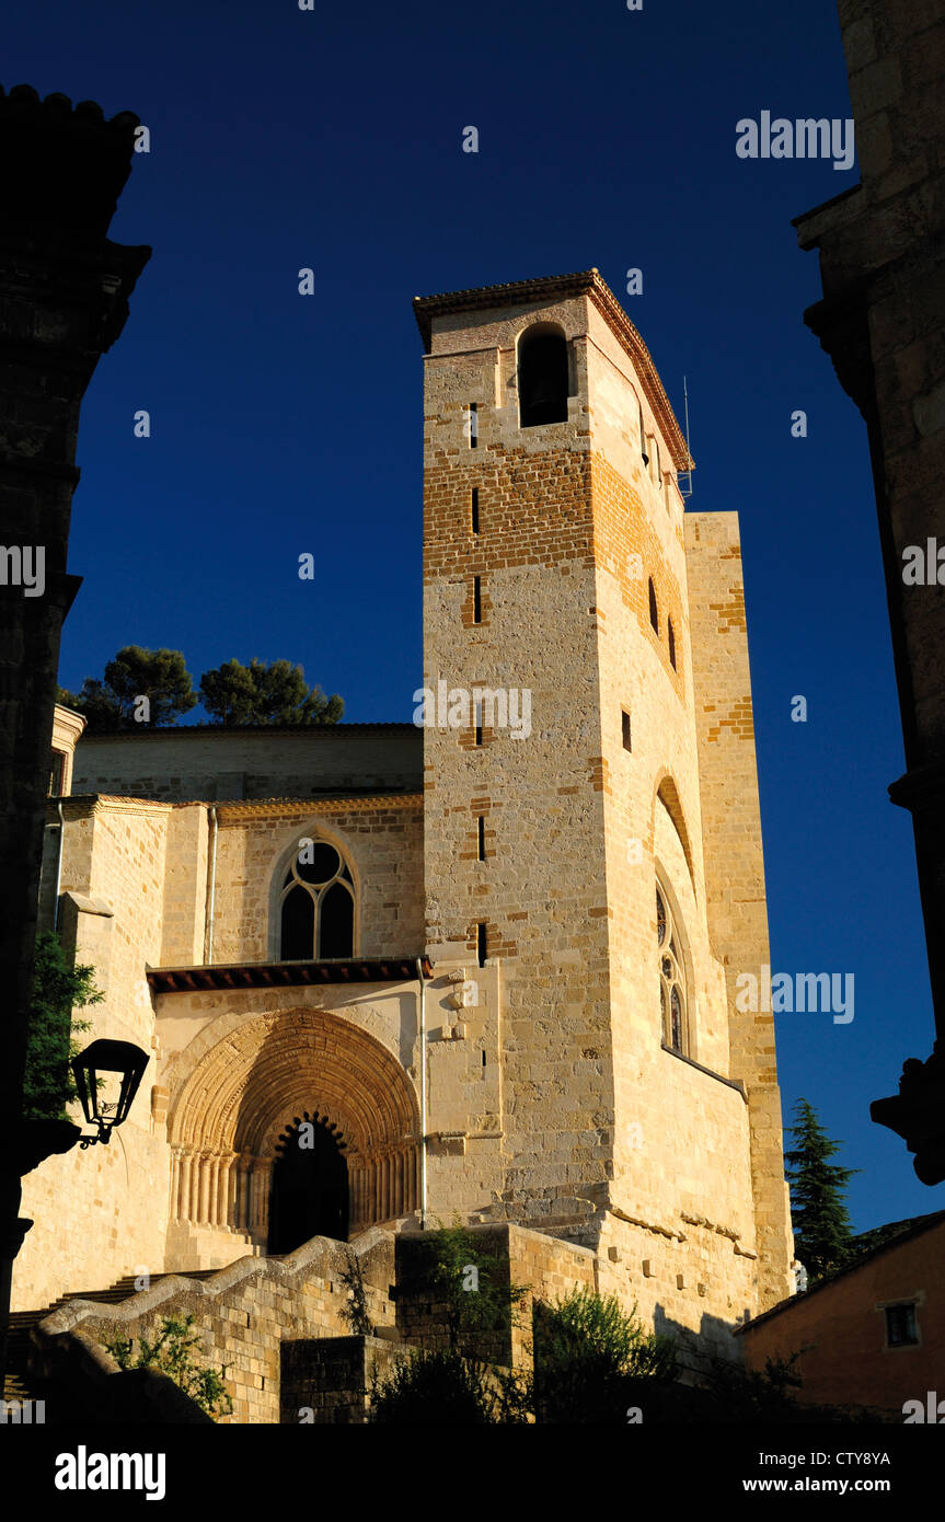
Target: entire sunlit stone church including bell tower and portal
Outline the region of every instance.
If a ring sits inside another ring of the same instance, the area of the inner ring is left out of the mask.
[[[41,922],[152,1061],[17,1300],[460,1213],[723,1344],[791,1291],[737,514],[597,269],[414,310],[415,721],[58,714]]]

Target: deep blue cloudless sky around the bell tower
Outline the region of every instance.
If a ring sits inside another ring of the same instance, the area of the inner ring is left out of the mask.
[[[848,1143],[857,1230],[940,1208],[869,1120],[928,1055],[931,1006],[886,798],[904,761],[866,435],[803,327],[817,260],[790,225],[857,169],[735,155],[761,110],[849,116],[832,0],[49,0],[5,18],[0,79],[152,132],[111,234],[154,256],[82,411],[65,686],[131,642],[181,648],[195,680],[286,656],[347,718],[409,718],[411,297],[601,269],[679,412],[688,374],[691,505],[741,516],[773,968],[855,976],[852,1024],[778,1018],[785,1114],[803,1094]]]

